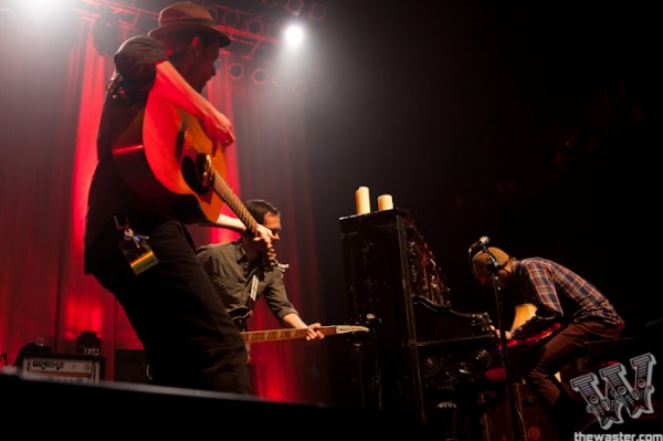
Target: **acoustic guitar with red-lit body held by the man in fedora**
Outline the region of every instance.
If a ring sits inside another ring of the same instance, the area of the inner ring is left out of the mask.
[[[122,177],[144,196],[161,199],[186,223],[214,222],[223,203],[257,235],[257,222],[225,181],[225,147],[212,143],[198,118],[150,94],[145,112],[112,148]],[[267,265],[283,271],[273,249]]]

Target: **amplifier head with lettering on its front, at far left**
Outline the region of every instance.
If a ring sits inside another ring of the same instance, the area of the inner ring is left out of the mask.
[[[22,375],[71,382],[98,382],[104,379],[106,357],[81,354],[30,354],[22,356]]]

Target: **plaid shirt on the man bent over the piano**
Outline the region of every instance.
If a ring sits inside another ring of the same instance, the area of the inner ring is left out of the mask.
[[[603,294],[569,269],[541,258],[514,262],[514,284],[537,306],[536,315],[513,338],[525,339],[556,323],[599,321],[609,326],[624,323]]]

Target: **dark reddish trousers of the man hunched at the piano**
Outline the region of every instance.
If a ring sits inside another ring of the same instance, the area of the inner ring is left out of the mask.
[[[559,384],[555,374],[565,365],[586,356],[585,342],[617,339],[621,329],[602,322],[571,323],[534,354],[524,357],[524,376],[529,389],[537,396],[558,430],[560,439],[578,431],[587,411],[573,400],[572,391]]]

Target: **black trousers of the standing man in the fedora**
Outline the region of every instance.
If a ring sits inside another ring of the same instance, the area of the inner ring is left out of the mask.
[[[129,216],[159,263],[135,275],[110,222],[87,254],[94,276],[124,307],[161,386],[250,393],[244,340],[196,258],[185,225]]]

